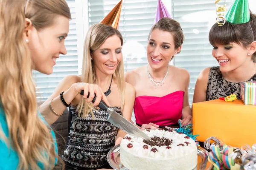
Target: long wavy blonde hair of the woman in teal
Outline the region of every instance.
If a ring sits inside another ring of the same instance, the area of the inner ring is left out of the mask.
[[[55,144],[38,115],[33,62],[23,32],[25,18],[40,30],[51,26],[58,14],[71,18],[65,0],[0,0],[0,104],[9,139],[2,129],[0,137],[17,151],[18,169],[41,169],[39,162],[44,169],[55,165]]]

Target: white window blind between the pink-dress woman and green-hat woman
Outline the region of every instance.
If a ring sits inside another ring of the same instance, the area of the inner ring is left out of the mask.
[[[224,2],[224,0],[222,0]],[[228,2],[230,0],[226,0]],[[209,30],[215,23],[214,0],[172,0],[172,17],[177,20],[185,36],[180,54],[174,65],[190,73],[189,104],[192,104],[195,82],[206,67],[218,65],[212,57]]]

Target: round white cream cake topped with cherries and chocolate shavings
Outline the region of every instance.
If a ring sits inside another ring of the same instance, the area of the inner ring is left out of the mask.
[[[197,166],[195,141],[175,130],[143,130],[151,140],[126,135],[120,144],[121,164],[129,170],[192,170]]]

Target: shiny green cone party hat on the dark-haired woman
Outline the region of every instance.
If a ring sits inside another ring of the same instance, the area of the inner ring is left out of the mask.
[[[250,10],[248,0],[235,0],[226,14],[228,22],[242,24],[250,21]]]

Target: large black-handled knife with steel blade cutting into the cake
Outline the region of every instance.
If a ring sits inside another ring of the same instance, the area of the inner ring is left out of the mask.
[[[84,91],[82,90],[80,93],[82,96],[84,95]],[[88,94],[87,98],[89,97],[90,94]],[[93,103],[96,100],[96,95],[93,98]],[[138,127],[136,127],[134,124],[126,120],[123,116],[119,115],[116,113],[116,111],[112,110],[109,108],[105,102],[101,99],[98,105],[99,108],[102,110],[108,112],[108,117],[107,121],[118,127],[119,129],[122,129],[128,134],[131,134],[136,137],[141,137],[142,139],[145,140],[151,140],[150,137],[148,137],[143,131],[141,131]]]

